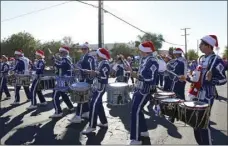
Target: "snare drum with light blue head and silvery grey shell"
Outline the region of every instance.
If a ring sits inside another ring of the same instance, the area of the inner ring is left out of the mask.
[[[90,100],[90,84],[86,82],[78,82],[70,85],[69,89],[72,102],[86,103]]]

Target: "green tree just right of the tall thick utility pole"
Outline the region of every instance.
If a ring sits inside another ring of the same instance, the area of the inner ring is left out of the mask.
[[[116,57],[116,55],[122,54],[124,57],[128,57],[130,55],[134,55],[134,49],[129,47],[126,44],[117,44],[115,43],[113,48],[111,49],[111,56],[113,58]]]

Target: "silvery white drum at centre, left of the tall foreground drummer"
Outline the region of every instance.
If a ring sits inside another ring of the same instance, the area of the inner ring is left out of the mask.
[[[108,84],[107,102],[110,105],[125,105],[129,103],[130,95],[128,84],[123,82]]]

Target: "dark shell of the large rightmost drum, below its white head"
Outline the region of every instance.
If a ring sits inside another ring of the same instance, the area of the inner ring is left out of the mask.
[[[208,126],[209,112],[207,108],[192,108],[178,105],[178,118],[180,121],[190,125],[193,128],[202,128],[205,129]]]

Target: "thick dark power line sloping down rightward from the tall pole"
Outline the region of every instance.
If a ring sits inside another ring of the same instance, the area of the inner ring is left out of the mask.
[[[86,4],[86,5],[90,5],[90,6],[92,6],[92,7],[95,7],[95,8],[98,8],[98,9],[99,9],[98,6],[95,6],[95,5],[93,5],[93,4],[89,4],[89,3],[86,3],[86,2],[82,2],[82,1],[78,1],[78,2],[83,3],[83,4]],[[120,18],[120,17],[118,17],[118,16],[116,16],[115,14],[109,12],[108,10],[106,10],[106,9],[104,9],[104,8],[101,8],[101,9],[104,10],[105,13],[109,13],[109,14],[112,15],[113,17],[115,17],[115,18],[117,18],[117,19],[119,19],[119,20],[121,20],[121,21],[127,23],[128,25],[134,27],[135,29],[137,29],[137,30],[139,30],[139,31],[141,31],[141,32],[143,32],[143,33],[145,33],[145,34],[149,34],[149,33],[145,32],[145,31],[143,31],[142,29],[136,27],[135,25],[133,25],[133,24],[131,24],[131,23],[129,23],[129,22],[123,20],[122,18]],[[150,34],[149,34],[149,35],[150,35]],[[170,42],[167,42],[167,41],[165,41],[165,40],[162,40],[162,41],[165,42],[165,43],[171,44],[171,45],[184,46],[184,45],[180,45],[180,44],[170,43]]]

